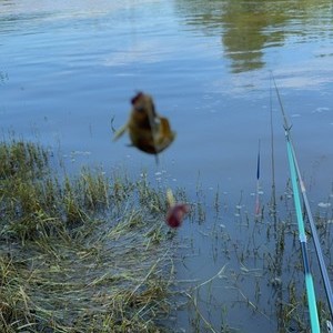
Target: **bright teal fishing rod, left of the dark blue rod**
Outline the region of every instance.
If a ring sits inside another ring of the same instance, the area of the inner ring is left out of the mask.
[[[281,101],[281,97],[280,97],[273,74],[272,74],[272,79],[274,82],[278,100],[280,103],[280,108],[281,108],[281,112],[282,112],[283,121],[284,121],[283,127],[284,127],[284,134],[285,134],[285,140],[286,140],[286,151],[287,151],[287,160],[289,160],[290,174],[291,174],[291,181],[292,181],[294,205],[295,205],[296,218],[297,218],[300,245],[301,245],[302,258],[303,258],[303,268],[304,268],[305,287],[306,287],[306,296],[307,296],[307,307],[309,307],[309,312],[310,312],[311,331],[312,331],[312,333],[319,333],[319,332],[321,332],[321,330],[320,330],[320,322],[319,322],[319,315],[317,315],[313,278],[312,278],[312,273],[310,270],[310,263],[309,263],[309,256],[307,256],[306,234],[305,234],[305,226],[304,226],[304,220],[303,220],[302,208],[301,208],[301,199],[300,199],[300,192],[299,192],[299,185],[297,185],[297,170],[296,170],[296,164],[295,164],[295,154],[294,154],[294,149],[293,149],[293,145],[291,142],[291,135],[290,135],[291,127],[287,123],[285,112],[283,109],[283,104]]]

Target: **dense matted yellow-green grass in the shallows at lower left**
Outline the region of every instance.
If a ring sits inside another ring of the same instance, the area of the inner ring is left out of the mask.
[[[0,143],[0,331],[163,332],[167,203],[147,180],[60,180],[38,144]]]

